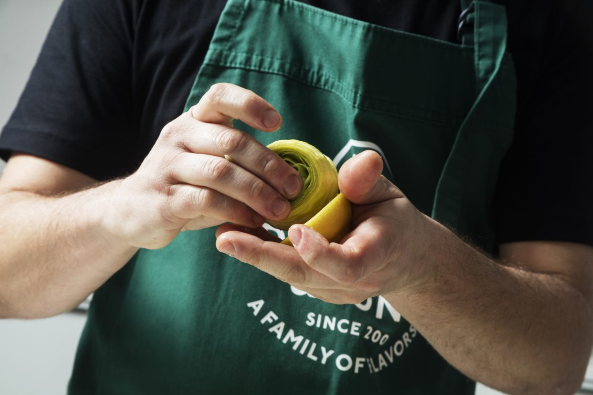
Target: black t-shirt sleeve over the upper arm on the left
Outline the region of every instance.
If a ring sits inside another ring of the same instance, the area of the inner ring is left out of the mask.
[[[95,179],[125,174],[133,149],[132,7],[65,0],[17,107],[0,156],[24,152]]]

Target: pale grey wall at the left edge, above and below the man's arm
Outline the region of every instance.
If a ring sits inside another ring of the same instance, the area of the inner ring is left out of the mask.
[[[0,126],[14,110],[60,2],[0,0]],[[64,394],[84,321],[84,313],[0,320],[0,394]]]

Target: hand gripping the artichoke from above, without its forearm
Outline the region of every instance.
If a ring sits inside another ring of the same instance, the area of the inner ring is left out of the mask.
[[[226,221],[258,227],[264,217],[285,219],[287,199],[301,190],[300,176],[276,153],[233,129],[234,118],[263,131],[281,124],[272,105],[253,92],[213,85],[164,127],[138,171],[120,183],[106,219],[110,232],[130,245],[155,249],[181,230]]]

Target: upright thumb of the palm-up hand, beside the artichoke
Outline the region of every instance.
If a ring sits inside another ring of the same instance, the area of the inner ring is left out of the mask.
[[[340,191],[354,204],[374,204],[404,197],[404,194],[381,175],[383,160],[372,150],[348,159],[340,168]]]

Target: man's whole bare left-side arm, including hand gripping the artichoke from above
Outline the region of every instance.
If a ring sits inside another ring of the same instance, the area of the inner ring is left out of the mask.
[[[298,194],[301,178],[233,129],[232,118],[264,131],[281,123],[253,92],[217,84],[164,127],[127,178],[97,184],[58,163],[13,155],[0,178],[0,318],[68,311],[138,248],[165,246],[181,230],[288,216],[286,198]]]

